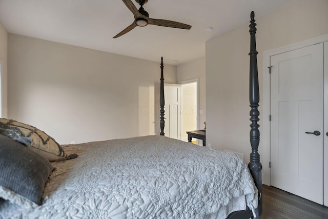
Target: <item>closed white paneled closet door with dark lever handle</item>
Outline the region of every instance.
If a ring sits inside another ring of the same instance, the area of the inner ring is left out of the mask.
[[[272,56],[271,66],[271,185],[322,204],[323,44]]]

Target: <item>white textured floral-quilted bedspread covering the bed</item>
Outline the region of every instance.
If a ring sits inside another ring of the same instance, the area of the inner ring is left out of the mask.
[[[257,207],[253,179],[233,153],[156,135],[64,150],[79,156],[53,163],[43,205],[1,200],[0,218],[224,218]]]

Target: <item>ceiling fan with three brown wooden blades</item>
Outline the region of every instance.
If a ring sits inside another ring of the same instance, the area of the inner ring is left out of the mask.
[[[191,28],[190,25],[182,24],[179,22],[150,18],[148,12],[145,11],[145,9],[142,7],[144,4],[146,4],[148,2],[148,0],[135,0],[140,5],[139,10],[135,7],[135,5],[132,3],[131,0],[122,0],[122,1],[133,13],[134,22],[129,27],[127,27],[126,29],[122,30],[117,35],[115,35],[113,38],[117,38],[121,35],[126,34],[127,32],[131,31],[133,28],[135,28],[136,26],[145,27],[148,24],[163,26],[163,27],[188,29],[188,30]]]

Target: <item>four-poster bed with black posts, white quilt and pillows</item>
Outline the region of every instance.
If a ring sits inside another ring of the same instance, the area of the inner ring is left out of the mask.
[[[234,153],[163,136],[161,58],[160,135],[61,146],[0,121],[0,218],[260,218],[255,26],[252,12],[248,167]]]

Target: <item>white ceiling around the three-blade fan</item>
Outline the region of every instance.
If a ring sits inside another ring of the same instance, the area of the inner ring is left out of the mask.
[[[121,0],[0,0],[0,21],[9,33],[156,62],[163,56],[165,63],[178,65],[204,57],[206,41],[249,23],[252,10],[256,19],[293,1],[149,0],[144,6],[149,17],[191,30],[148,25],[115,39],[134,21]]]

